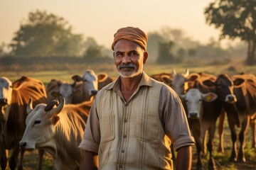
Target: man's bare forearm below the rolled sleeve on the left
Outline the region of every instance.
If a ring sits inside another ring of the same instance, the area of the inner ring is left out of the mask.
[[[98,169],[98,157],[95,152],[85,151],[85,159],[82,166],[83,170],[96,170]]]

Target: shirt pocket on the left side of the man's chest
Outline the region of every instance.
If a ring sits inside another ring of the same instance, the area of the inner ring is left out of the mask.
[[[100,143],[114,140],[114,115],[100,119]]]

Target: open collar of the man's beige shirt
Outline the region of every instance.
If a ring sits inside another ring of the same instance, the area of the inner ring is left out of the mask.
[[[153,86],[153,81],[152,79],[145,73],[142,73],[142,79],[139,81],[138,88],[141,86]],[[116,81],[114,81],[113,84],[107,87],[106,90],[111,90],[113,89],[114,91],[118,91],[120,89],[120,76],[117,78]]]

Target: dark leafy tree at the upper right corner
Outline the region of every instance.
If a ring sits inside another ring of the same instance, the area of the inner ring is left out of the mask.
[[[255,0],[215,0],[205,10],[206,22],[221,30],[220,39],[240,38],[247,42],[247,64],[255,64],[255,6]]]

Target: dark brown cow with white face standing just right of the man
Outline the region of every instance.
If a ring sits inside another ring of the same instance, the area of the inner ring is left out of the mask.
[[[216,98],[216,87],[206,86],[202,81],[195,81],[195,89],[189,89],[185,95],[181,95],[186,103],[186,111],[188,115],[188,124],[191,128],[192,135],[196,140],[196,149],[198,152],[197,169],[202,168],[201,149],[206,139],[206,131],[208,131],[207,149],[210,153],[208,169],[215,169],[212,157],[213,139],[216,128],[216,120],[223,113],[220,100]]]

